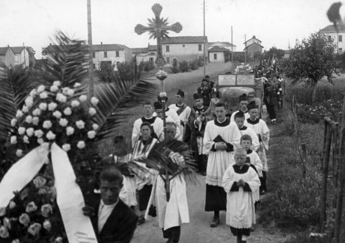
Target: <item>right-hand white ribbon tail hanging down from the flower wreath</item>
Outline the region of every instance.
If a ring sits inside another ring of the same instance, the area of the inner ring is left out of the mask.
[[[56,200],[69,243],[97,243],[91,220],[83,215],[84,197],[75,182],[76,177],[67,153],[55,143],[51,145],[50,151]]]

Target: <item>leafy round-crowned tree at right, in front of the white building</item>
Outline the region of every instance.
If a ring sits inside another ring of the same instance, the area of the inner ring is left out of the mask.
[[[339,74],[337,46],[320,32],[312,33],[308,39],[297,40],[290,51],[290,58],[283,61],[283,69],[293,84],[305,82],[313,87],[311,101],[314,103],[316,87],[322,77],[332,82],[334,74]]]

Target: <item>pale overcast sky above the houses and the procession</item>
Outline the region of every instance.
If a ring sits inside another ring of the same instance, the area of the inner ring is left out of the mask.
[[[331,24],[326,11],[336,0],[206,0],[208,42],[226,41],[244,49],[245,36],[255,35],[264,49],[294,47],[296,39]],[[203,0],[91,0],[93,44],[122,44],[129,48],[156,45],[149,34],[134,32],[154,17],[151,7],[160,3],[169,24],[180,22],[180,33],[169,36],[202,36]],[[345,18],[345,7],[341,7]],[[0,0],[0,47],[31,46],[35,57],[52,43],[60,29],[69,37],[87,40],[87,0]]]

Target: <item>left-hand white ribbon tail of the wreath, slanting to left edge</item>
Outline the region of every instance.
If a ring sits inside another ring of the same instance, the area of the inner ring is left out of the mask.
[[[13,192],[21,191],[48,162],[48,146],[45,143],[32,149],[7,171],[0,183],[0,208],[6,207]]]

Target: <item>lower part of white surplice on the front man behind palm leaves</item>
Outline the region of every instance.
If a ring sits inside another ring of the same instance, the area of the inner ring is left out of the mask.
[[[157,217],[155,218],[148,215],[151,204],[156,206]],[[170,180],[169,202],[166,201],[164,181],[160,175],[156,176],[150,200],[147,205],[145,219],[158,220],[159,227],[164,230],[180,226],[183,223],[189,223],[186,183],[183,175],[176,176]]]

